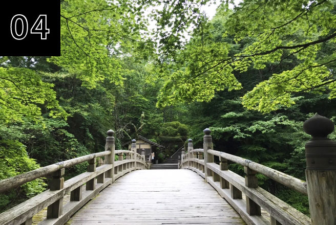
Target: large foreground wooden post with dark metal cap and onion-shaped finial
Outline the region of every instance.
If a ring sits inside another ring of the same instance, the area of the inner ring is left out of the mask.
[[[336,224],[336,142],[327,138],[333,129],[333,122],[318,114],[303,124],[303,130],[312,136],[305,144],[312,225]]]

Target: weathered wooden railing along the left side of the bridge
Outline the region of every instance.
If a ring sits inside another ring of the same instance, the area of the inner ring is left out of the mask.
[[[33,179],[51,175],[50,189],[40,193],[22,204],[0,214],[0,225],[31,225],[32,217],[47,207],[47,218],[39,224],[64,224],[68,219],[102,189],[112,184],[125,173],[137,169],[148,169],[141,155],[136,152],[135,140],[132,140],[131,151],[115,150],[114,131],[107,132],[105,151],[81,156],[75,159],[55,163],[46,167],[23,173],[0,181],[0,193],[18,187]],[[118,161],[115,161],[115,154]],[[125,154],[125,159],[123,159]],[[104,162],[101,158],[104,157]],[[96,159],[98,167],[96,166]],[[88,162],[88,171],[64,181],[65,168]],[[83,185],[86,184],[86,190]],[[63,198],[70,193],[70,201],[63,204]]]

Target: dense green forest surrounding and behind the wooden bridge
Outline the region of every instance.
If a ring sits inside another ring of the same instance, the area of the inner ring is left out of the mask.
[[[102,151],[109,129],[117,149],[139,134],[167,146],[163,160],[206,127],[216,150],[305,179],[303,122],[336,119],[336,1],[222,1],[212,19],[208,3],[60,1],[60,57],[0,57],[0,179]],[[306,196],[258,178],[309,214]],[[47,186],[0,194],[0,211]]]

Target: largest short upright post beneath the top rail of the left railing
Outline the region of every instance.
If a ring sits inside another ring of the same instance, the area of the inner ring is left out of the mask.
[[[52,180],[50,181],[50,191],[56,191],[64,188],[64,168],[52,173]],[[59,198],[53,204],[48,206],[47,218],[58,218],[62,214],[63,198]]]

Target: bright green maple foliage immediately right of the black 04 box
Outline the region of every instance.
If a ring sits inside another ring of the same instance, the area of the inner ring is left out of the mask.
[[[136,2],[61,2],[61,56],[51,62],[66,68],[94,88],[104,80],[122,85],[123,62],[118,57],[136,50],[145,30]]]

